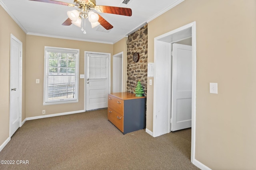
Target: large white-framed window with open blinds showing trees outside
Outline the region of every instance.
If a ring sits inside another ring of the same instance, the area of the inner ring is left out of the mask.
[[[79,49],[44,48],[44,105],[78,102]]]

